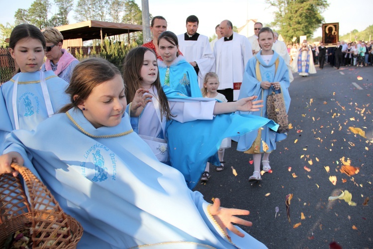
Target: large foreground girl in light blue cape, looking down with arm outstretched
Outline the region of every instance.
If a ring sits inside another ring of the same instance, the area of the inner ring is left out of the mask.
[[[80,62],[67,89],[71,104],[32,131],[11,132],[0,174],[16,176],[17,162],[39,175],[82,224],[78,248],[266,248],[232,224],[251,226],[236,217],[249,211],[204,201],[133,132],[120,74],[102,59]]]

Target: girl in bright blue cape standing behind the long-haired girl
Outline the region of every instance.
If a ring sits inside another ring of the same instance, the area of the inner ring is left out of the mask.
[[[178,37],[171,31],[158,37],[158,51],[163,61],[158,61],[162,86],[178,90],[188,97],[202,97],[197,74],[183,56],[179,55]]]

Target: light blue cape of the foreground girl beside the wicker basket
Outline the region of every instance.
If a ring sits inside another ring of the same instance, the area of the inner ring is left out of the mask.
[[[78,248],[266,248],[245,234],[227,237],[187,188],[133,132],[128,117],[94,128],[79,109],[56,114],[33,131],[14,130],[4,152],[17,151],[64,211],[84,228]],[[230,241],[231,239],[231,241]]]

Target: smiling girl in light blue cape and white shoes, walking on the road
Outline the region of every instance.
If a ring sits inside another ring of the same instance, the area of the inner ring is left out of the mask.
[[[258,99],[264,100],[264,107],[260,111],[250,112],[250,114],[266,118],[266,100],[270,92],[273,91],[272,88],[281,91],[286,113],[290,106],[290,96],[287,90],[290,82],[287,67],[279,54],[272,50],[273,39],[274,34],[270,28],[262,28],[259,31],[258,42],[262,50],[247,63],[238,97],[238,99],[241,99],[258,95]],[[287,136],[286,133],[279,134],[268,127],[263,128],[238,138],[237,150],[253,154],[254,173],[249,178],[250,182],[262,180],[260,174],[262,154],[263,171],[269,172],[271,170],[269,164],[270,153],[276,149],[276,142],[285,139]],[[268,148],[263,147],[266,144]]]

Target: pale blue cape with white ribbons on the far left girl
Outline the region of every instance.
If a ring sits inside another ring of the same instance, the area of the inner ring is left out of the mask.
[[[65,93],[68,83],[55,75],[53,71],[46,71],[44,74],[53,111],[57,112],[61,107],[70,102],[69,96]],[[16,105],[19,128],[31,130],[41,121],[48,118],[40,86],[40,71],[17,73],[11,80],[5,82],[0,87],[0,144],[4,141],[5,136],[15,129],[12,94],[14,81],[17,77]]]

